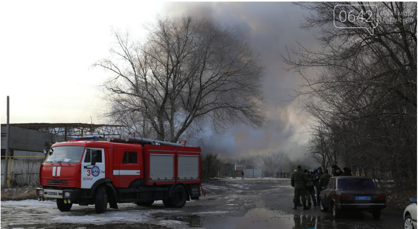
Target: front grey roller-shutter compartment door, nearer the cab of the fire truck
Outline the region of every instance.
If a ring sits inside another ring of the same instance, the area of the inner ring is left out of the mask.
[[[174,180],[173,154],[150,154],[150,180]]]

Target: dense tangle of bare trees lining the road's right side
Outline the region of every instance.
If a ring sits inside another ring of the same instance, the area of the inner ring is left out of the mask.
[[[326,155],[336,155],[333,163],[416,189],[417,5],[374,3],[377,13],[367,4],[341,3],[375,12],[363,24],[367,31],[349,20],[335,28],[337,4],[301,3],[312,12],[301,27],[320,28],[322,49],[299,45],[289,52],[295,58],[284,57],[305,80],[296,97],[313,117],[312,153],[325,164],[332,162]]]

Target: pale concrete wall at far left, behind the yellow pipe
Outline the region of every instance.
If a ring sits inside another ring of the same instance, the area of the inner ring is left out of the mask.
[[[10,184],[19,186],[38,186],[39,185],[39,168],[45,160],[42,159],[28,159],[28,160],[12,160],[10,162]],[[6,160],[1,160],[1,168],[5,168]],[[1,180],[6,176],[1,173]]]

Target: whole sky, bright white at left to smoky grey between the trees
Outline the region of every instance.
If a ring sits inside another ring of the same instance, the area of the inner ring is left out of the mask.
[[[6,2],[0,14],[1,122],[11,97],[10,122],[94,122],[102,106],[97,86],[109,73],[91,64],[109,56],[112,28],[143,36],[143,23],[161,16],[192,15],[225,24],[249,42],[265,66],[263,89],[268,122],[262,130],[231,127],[194,140],[207,151],[227,155],[284,150],[305,153],[307,122],[297,101],[288,102],[300,77],[283,70],[279,53],[296,41],[315,48],[312,32],[298,28],[303,14],[291,3],[80,3]],[[129,5],[129,7],[127,7]],[[8,9],[8,10],[5,10]],[[5,87],[4,85],[7,85]]]

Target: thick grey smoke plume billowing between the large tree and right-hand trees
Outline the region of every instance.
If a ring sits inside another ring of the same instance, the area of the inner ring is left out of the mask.
[[[298,101],[289,101],[300,76],[283,69],[287,66],[280,53],[287,55],[286,47],[295,46],[296,41],[317,47],[313,32],[298,27],[307,12],[291,3],[169,3],[163,12],[171,17],[205,18],[234,29],[238,38],[260,53],[265,66],[262,84],[270,121],[263,129],[240,125],[220,136],[208,130],[192,143],[200,145],[203,152],[234,157],[278,151],[288,153],[291,159],[302,157],[307,143],[303,123],[308,120]],[[210,129],[209,123],[207,126]]]

